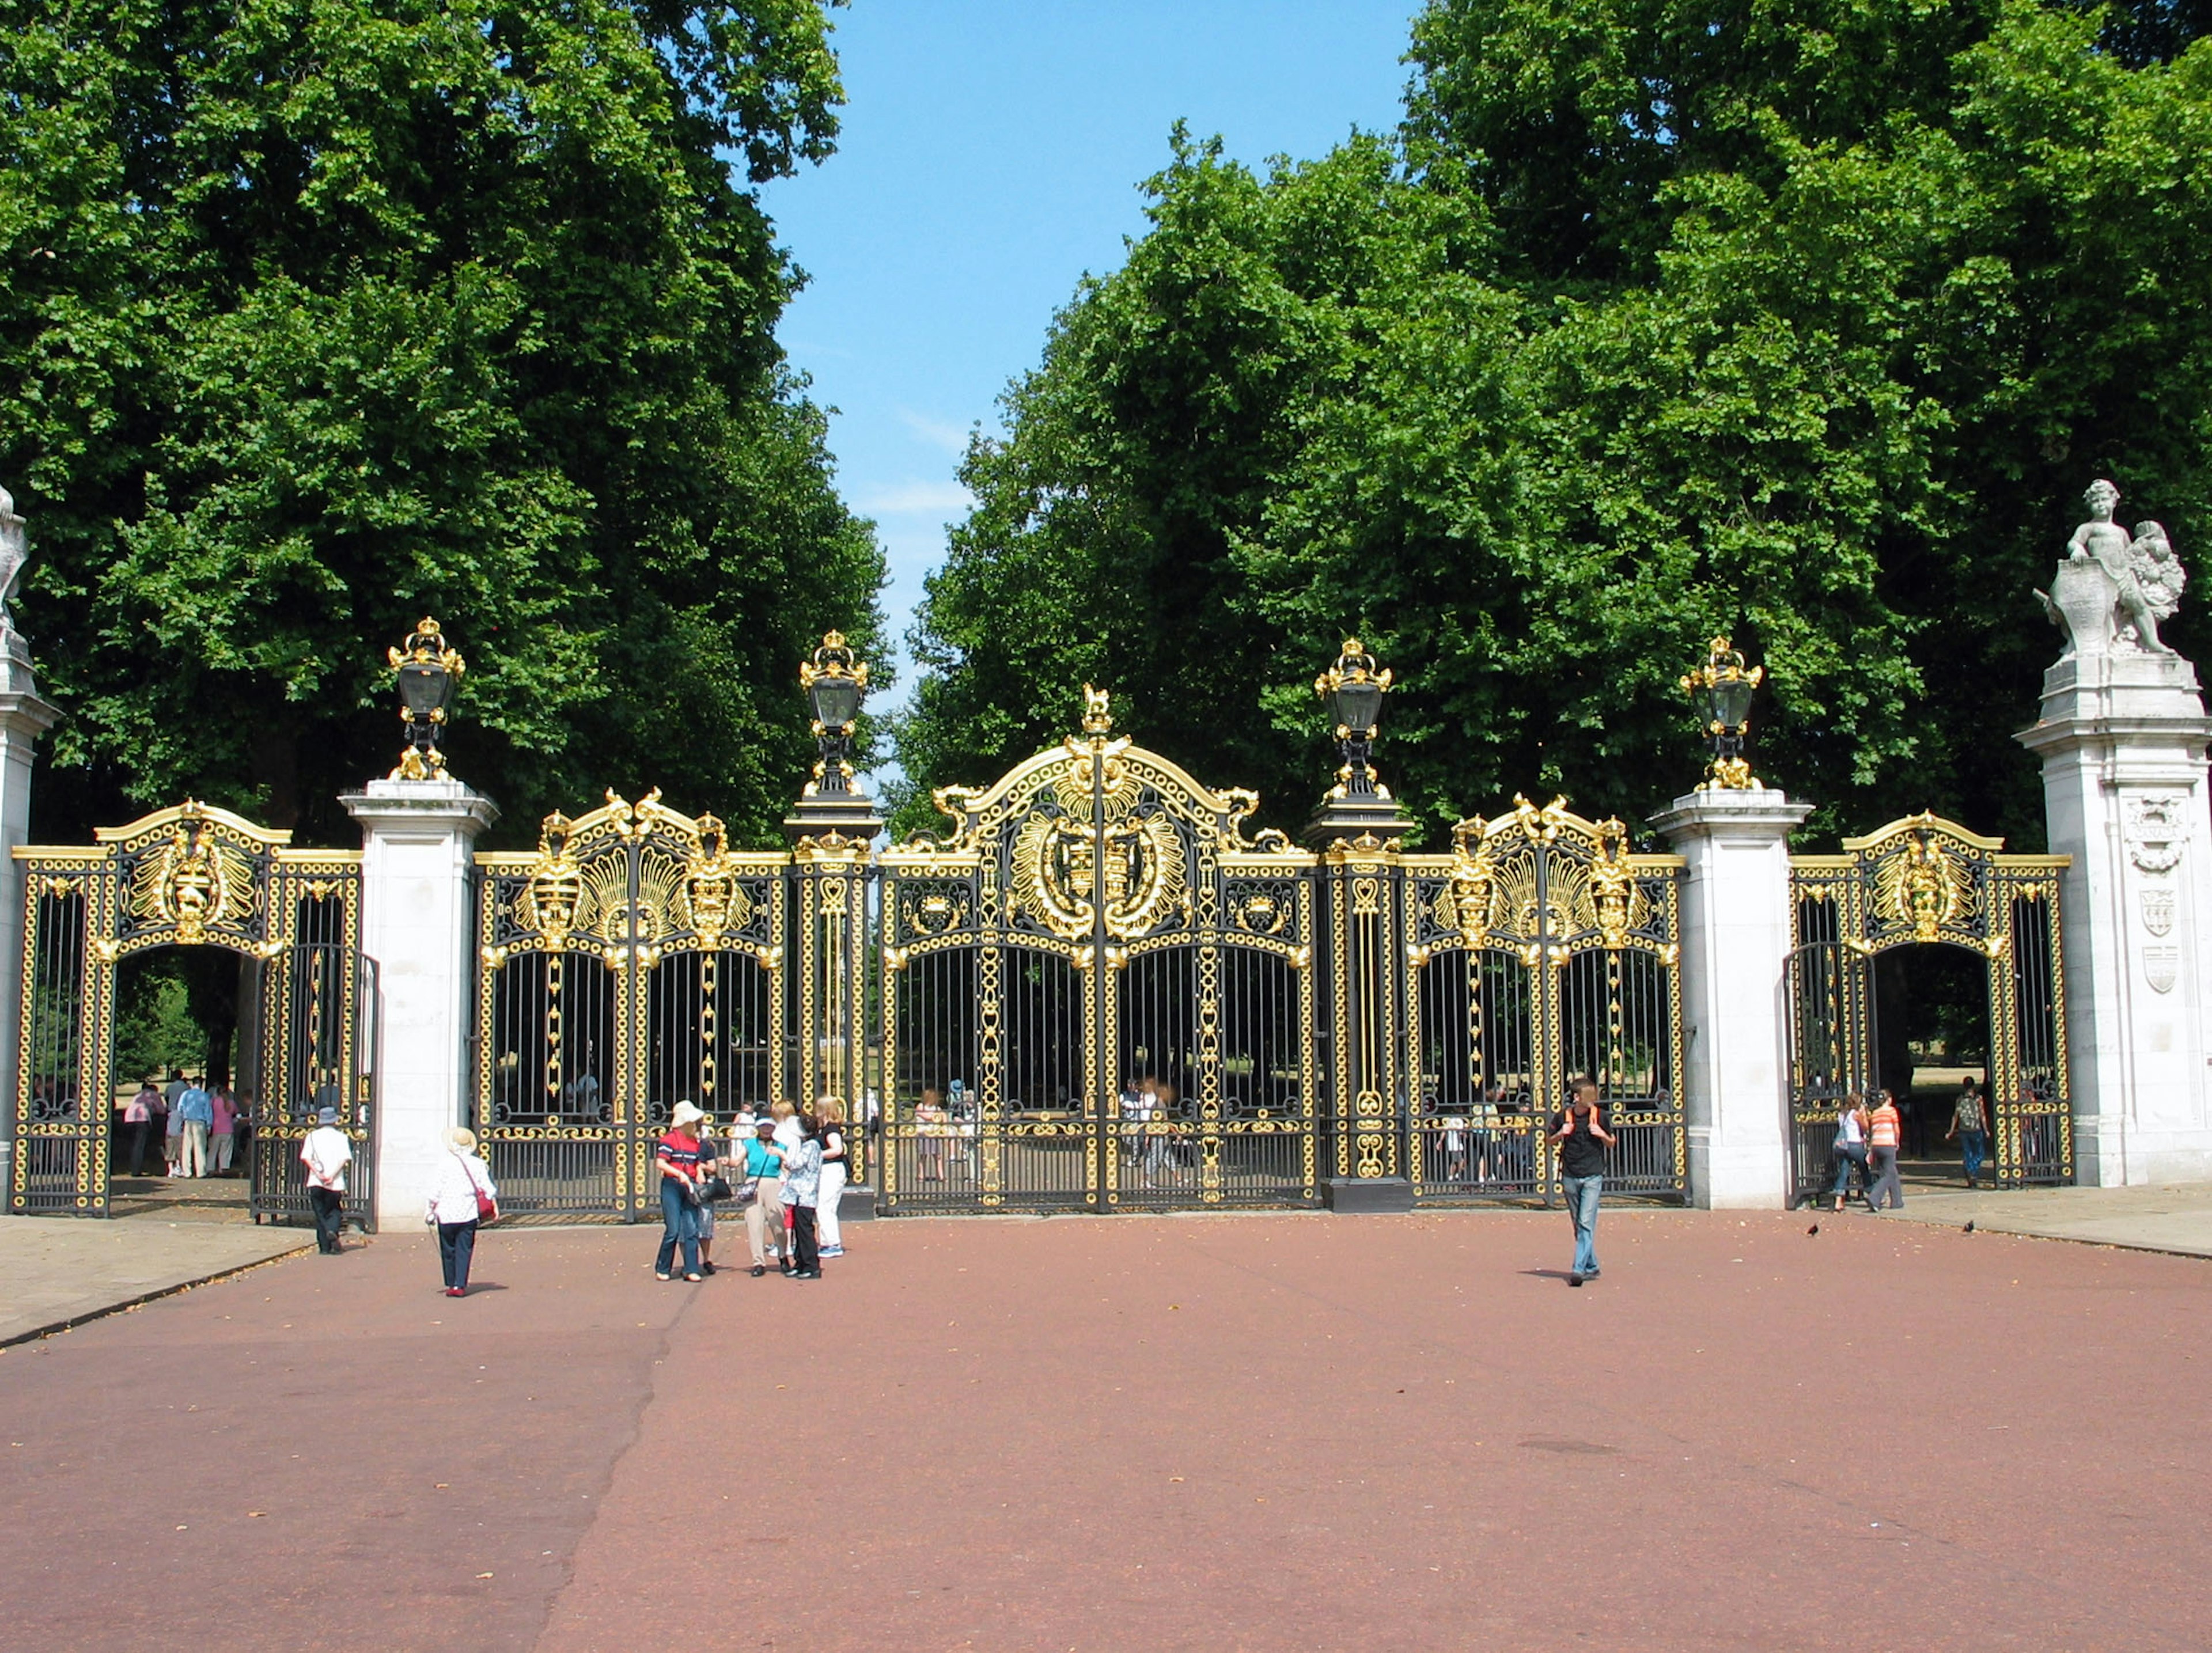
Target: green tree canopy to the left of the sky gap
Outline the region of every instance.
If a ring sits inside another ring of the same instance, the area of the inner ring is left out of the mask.
[[[648,783],[772,832],[796,662],[880,624],[752,188],[841,97],[816,0],[0,0],[38,830],[343,841],[436,615],[509,836]]]

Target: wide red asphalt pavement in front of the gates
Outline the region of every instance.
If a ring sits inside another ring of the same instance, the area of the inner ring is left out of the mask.
[[[0,1638],[2212,1644],[2212,1264],[1809,1221],[387,1235],[0,1352]]]

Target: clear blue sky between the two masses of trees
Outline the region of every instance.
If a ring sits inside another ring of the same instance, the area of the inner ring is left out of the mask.
[[[779,336],[838,409],[847,502],[902,640],[964,511],[969,429],[1037,363],[1082,274],[1144,232],[1181,117],[1237,159],[1398,124],[1416,0],[854,0],[834,13],[838,153],[763,190],[810,274]],[[1011,646],[1018,646],[1009,640]],[[896,662],[900,679],[911,668]]]

